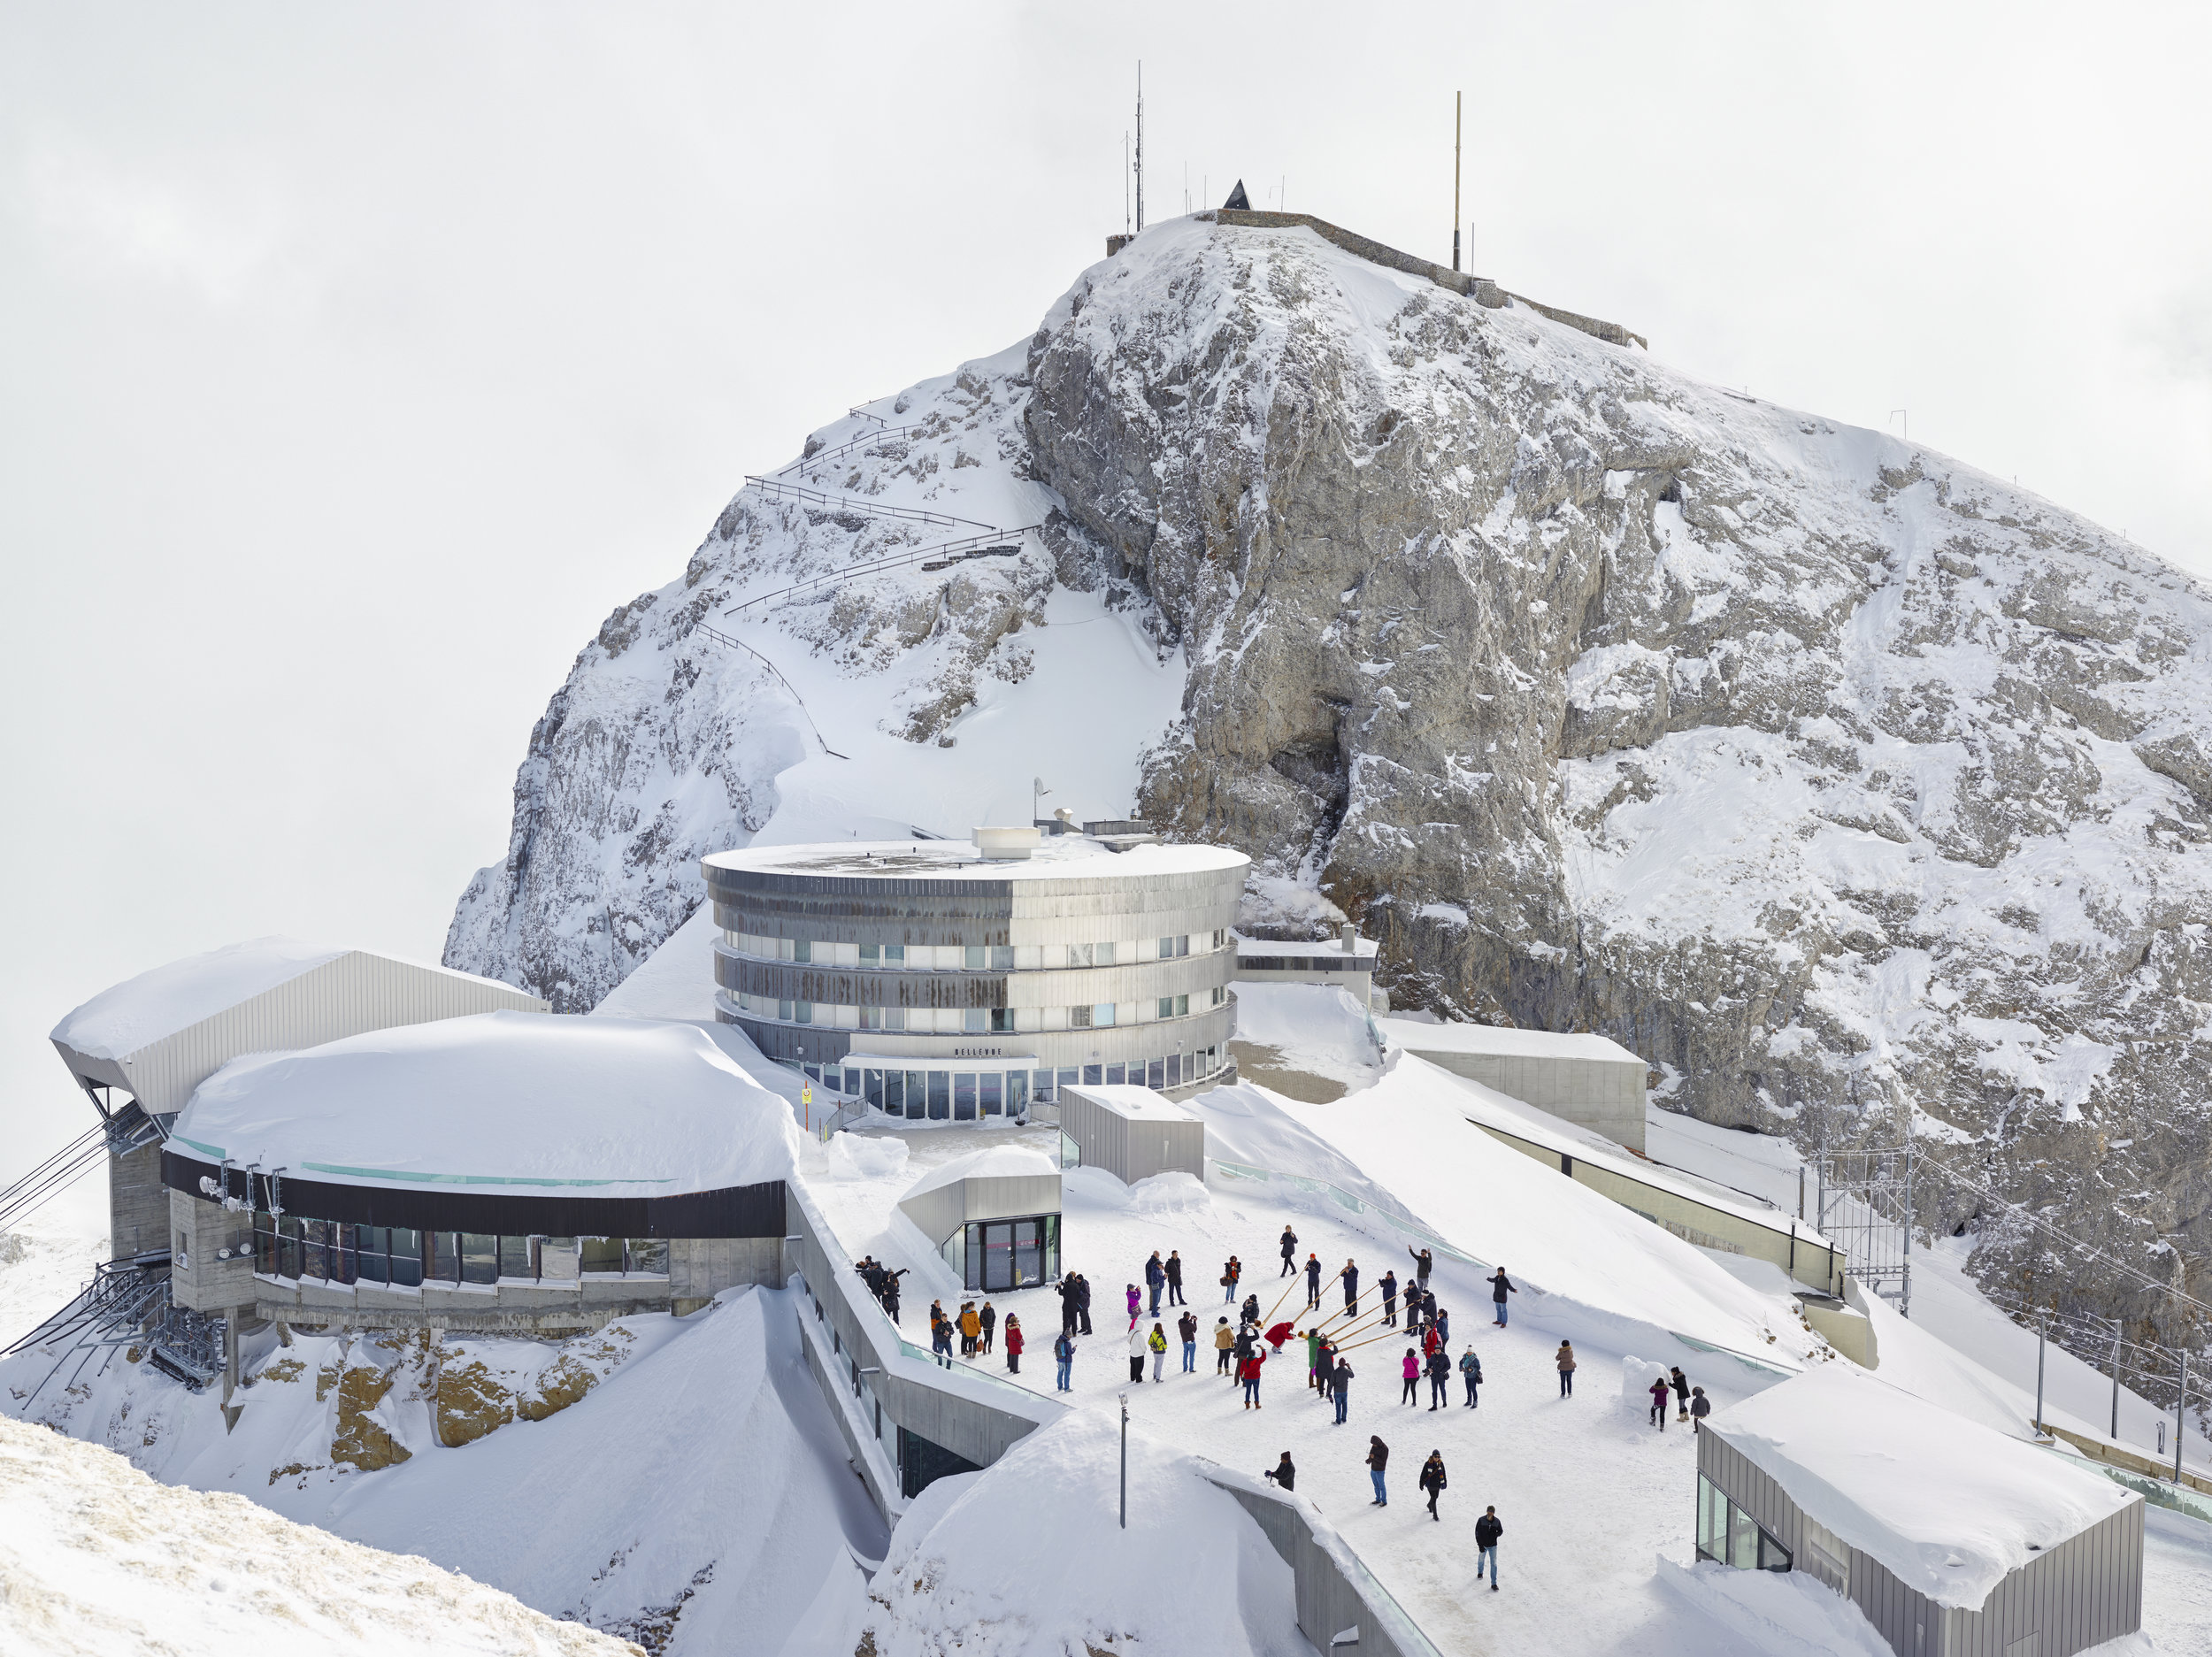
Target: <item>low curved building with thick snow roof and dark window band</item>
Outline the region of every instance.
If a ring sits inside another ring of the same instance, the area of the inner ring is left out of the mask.
[[[241,1057],[161,1150],[179,1305],[577,1332],[783,1279],[790,1108],[699,1029],[489,1013]]]

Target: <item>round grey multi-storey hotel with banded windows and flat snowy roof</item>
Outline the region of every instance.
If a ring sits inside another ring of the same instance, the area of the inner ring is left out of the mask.
[[[719,852],[714,1011],[896,1117],[1013,1117],[1084,1082],[1183,1093],[1230,1066],[1248,867],[1037,830]]]

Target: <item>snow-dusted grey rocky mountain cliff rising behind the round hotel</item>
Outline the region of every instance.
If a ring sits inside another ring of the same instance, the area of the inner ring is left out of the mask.
[[[1029,551],[770,608],[787,697],[697,622],[962,531],[741,493],[577,659],[451,965],[588,1004],[699,852],[843,834],[794,810],[834,770],[801,692],[865,706],[878,770],[978,710],[1082,728],[1097,699],[1031,675],[1086,593],[1183,675],[1146,812],[1250,852],[1272,914],[1358,918],[1398,1004],[1601,1029],[1674,1108],[1801,1144],[1911,1111],[2079,1237],[2205,1257],[2212,597],[2172,569],[1307,230],[1157,226],[889,418],[918,429],[841,425],[794,478],[1042,522]],[[1986,1274],[2148,1310],[1942,1190]]]

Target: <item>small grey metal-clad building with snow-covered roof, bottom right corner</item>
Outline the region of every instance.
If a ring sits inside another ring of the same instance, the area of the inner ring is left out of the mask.
[[[1898,1657],[2070,1657],[2141,1626],[2141,1496],[1871,1376],[1854,1372],[1838,1378],[1843,1387],[1807,1387],[1809,1380],[1825,1380],[1825,1372],[1787,1380],[1705,1422],[1697,1447],[1699,1557],[1739,1569],[1807,1571],[1856,1604]],[[1882,1392],[1869,1394],[1871,1407],[1856,1411],[1845,1387]],[[1776,1431],[1792,1392],[1816,1394],[1798,1403],[1801,1434]],[[1836,1409],[1838,1398],[1845,1398],[1843,1409]],[[1739,1420],[1745,1411],[1759,1418]],[[1911,1535],[1871,1533],[1867,1511],[1871,1504],[1880,1515],[1882,1493],[1851,1471],[1823,1469],[1825,1440],[1858,1440],[1865,1465],[1891,1480],[1896,1507],[1922,1526],[1940,1518],[1947,1502],[1955,1518],[1918,1549]],[[1958,1478],[1955,1467],[1969,1469],[1966,1476]],[[1805,1471],[1814,1476],[1801,1476]],[[1836,1484],[1820,1478],[1823,1471],[1834,1473]],[[2011,1569],[2002,1569],[2004,1560],[1962,1560],[1966,1544],[1958,1551],[1940,1544],[1942,1535],[1986,1533],[1993,1511],[2000,1526],[2008,1515],[2031,1513],[2026,1529],[2048,1540],[2026,1542],[2024,1560]],[[1878,1540],[1878,1549],[1856,1544],[1867,1540]],[[1924,1580],[1929,1555],[1962,1564],[1966,1580],[1958,1593],[1927,1593],[1900,1575],[1920,1566]]]

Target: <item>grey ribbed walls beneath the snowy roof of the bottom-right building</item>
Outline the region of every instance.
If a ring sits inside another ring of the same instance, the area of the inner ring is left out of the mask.
[[[1792,1562],[1803,1569],[1812,1546],[1805,1509],[1710,1422],[1699,1434],[1697,1471],[1790,1549]],[[1812,1518],[1818,1520],[1818,1513]],[[2006,1575],[1980,1611],[1940,1606],[1898,1582],[1871,1553],[1847,1553],[1849,1599],[1898,1657],[2073,1657],[2143,1624],[2139,1500]]]

